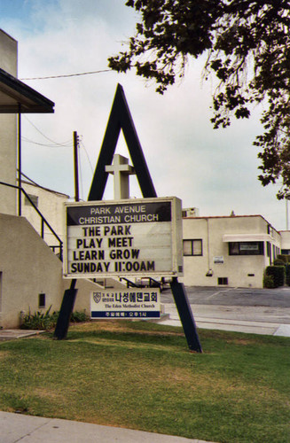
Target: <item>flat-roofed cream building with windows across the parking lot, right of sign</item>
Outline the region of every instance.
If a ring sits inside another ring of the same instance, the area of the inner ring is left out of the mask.
[[[283,247],[262,215],[185,217],[183,229],[186,285],[262,288],[264,269]]]

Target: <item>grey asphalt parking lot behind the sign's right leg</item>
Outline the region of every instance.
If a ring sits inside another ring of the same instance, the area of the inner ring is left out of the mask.
[[[290,287],[278,289],[185,287],[198,327],[290,337]],[[170,289],[161,292],[169,319],[181,325]]]

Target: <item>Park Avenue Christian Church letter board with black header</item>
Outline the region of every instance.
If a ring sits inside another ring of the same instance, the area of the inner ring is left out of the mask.
[[[182,276],[178,198],[67,203],[64,276]]]

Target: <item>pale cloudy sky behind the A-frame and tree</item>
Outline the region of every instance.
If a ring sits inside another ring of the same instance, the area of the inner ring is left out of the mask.
[[[125,0],[1,0],[0,28],[18,41],[20,80],[55,103],[53,114],[22,117],[22,171],[36,183],[74,197],[73,133],[81,144],[80,193],[86,200],[106,124],[120,83],[159,197],[178,197],[200,216],[261,214],[286,229],[278,185],[258,181],[256,108],[249,120],[213,129],[214,86],[202,82],[204,60],[190,60],[183,80],[163,95],[134,72],[107,72],[107,58],[123,51],[137,13]],[[105,71],[98,74],[83,74]],[[68,74],[83,74],[65,77]],[[43,79],[43,77],[60,76]],[[36,78],[37,80],[27,80]],[[115,153],[129,158],[123,136]],[[141,192],[130,177],[130,197]],[[106,199],[114,198],[113,178]]]

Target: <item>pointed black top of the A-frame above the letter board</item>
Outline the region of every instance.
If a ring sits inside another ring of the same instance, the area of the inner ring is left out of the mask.
[[[129,112],[129,105],[124,90],[122,89],[121,84],[118,84],[106,126],[103,144],[99,152],[97,167],[90,186],[89,201],[101,200],[103,198],[108,176],[106,166],[111,165],[113,162],[114,152],[121,129],[128,146],[130,158],[135,167],[137,180],[143,197],[157,197],[145,161],[144,153],[137,136],[137,131],[131,113]]]

